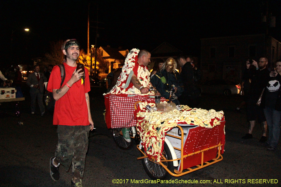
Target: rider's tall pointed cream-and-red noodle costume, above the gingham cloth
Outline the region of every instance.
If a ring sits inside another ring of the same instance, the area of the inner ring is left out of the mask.
[[[111,89],[111,91],[109,93],[111,93],[111,94],[124,93],[124,94],[134,94],[134,95],[154,95],[153,92],[148,92],[148,93],[142,94],[139,89],[135,88],[135,86],[132,86],[132,88],[129,88],[127,91],[125,89],[127,78],[137,63],[135,58],[139,52],[140,52],[139,49],[134,48],[128,53],[126,60],[125,60],[125,65],[122,67],[122,72],[117,80],[117,84]],[[147,68],[144,68],[142,66],[138,67],[138,74],[136,76],[137,76],[138,80],[140,81],[140,83],[142,84],[142,86],[144,86],[144,87],[150,86],[149,75],[150,75],[150,72],[147,70]],[[108,94],[108,93],[104,93],[103,95],[106,95],[106,94]]]

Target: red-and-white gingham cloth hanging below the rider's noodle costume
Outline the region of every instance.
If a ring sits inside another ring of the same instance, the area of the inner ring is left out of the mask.
[[[161,101],[165,101],[165,98],[161,98]],[[111,128],[123,128],[136,126],[137,121],[134,117],[134,104],[137,101],[148,101],[155,103],[154,98],[145,97],[143,95],[136,95],[128,97],[126,94],[110,94],[110,117]]]

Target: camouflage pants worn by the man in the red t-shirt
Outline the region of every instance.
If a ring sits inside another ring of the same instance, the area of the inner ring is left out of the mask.
[[[58,125],[58,143],[55,157],[68,171],[72,163],[72,175],[82,179],[84,175],[86,152],[89,145],[90,126]]]

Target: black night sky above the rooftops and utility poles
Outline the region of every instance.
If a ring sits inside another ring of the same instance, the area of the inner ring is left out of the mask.
[[[153,50],[168,42],[186,54],[200,56],[200,38],[264,33],[261,13],[265,0],[231,1],[90,1],[90,0],[1,0],[0,37],[4,46],[1,65],[12,55],[16,63],[30,63],[50,51],[50,41],[76,38],[87,49],[87,13],[96,21],[99,4],[98,46]],[[269,1],[276,27],[269,33],[281,41],[281,1]],[[96,23],[91,22],[91,26]],[[28,27],[30,32],[22,29]],[[95,44],[90,28],[90,45]],[[1,69],[1,68],[0,68]]]

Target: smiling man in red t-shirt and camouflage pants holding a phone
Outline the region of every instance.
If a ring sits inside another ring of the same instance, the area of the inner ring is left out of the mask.
[[[94,128],[88,94],[89,74],[84,68],[86,76],[81,79],[84,72],[78,73],[82,69],[76,71],[76,60],[80,54],[80,44],[77,40],[67,40],[62,49],[65,55],[64,82],[61,87],[60,67],[55,66],[47,88],[56,100],[53,124],[58,125],[58,144],[55,157],[50,159],[50,175],[53,180],[58,181],[59,165],[64,165],[68,171],[72,162],[71,186],[82,186],[89,131]]]

